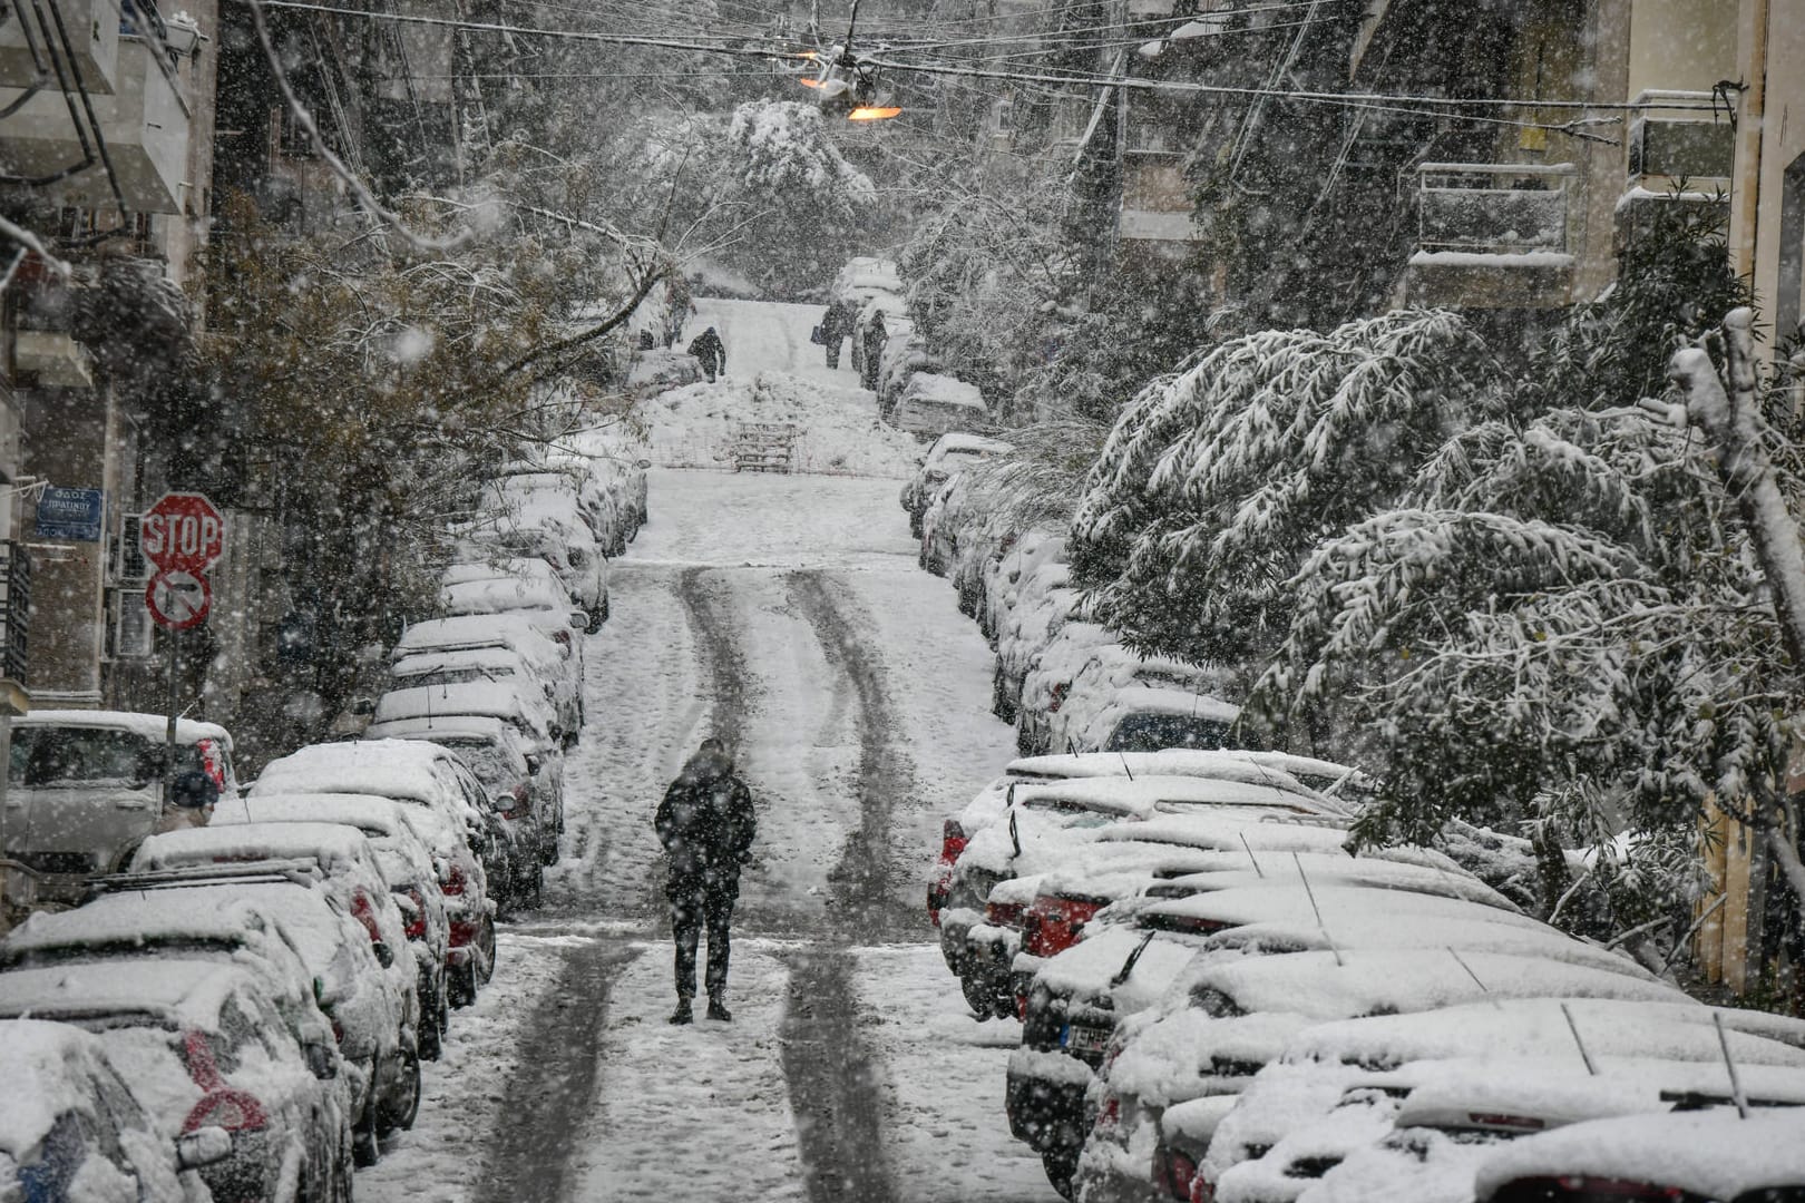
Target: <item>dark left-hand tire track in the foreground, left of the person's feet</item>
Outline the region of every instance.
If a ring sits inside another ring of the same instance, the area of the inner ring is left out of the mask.
[[[616,969],[637,950],[619,941],[570,949],[558,985],[542,996],[520,1061],[489,1136],[477,1203],[561,1203],[570,1196],[570,1154],[596,1109],[601,1037]]]

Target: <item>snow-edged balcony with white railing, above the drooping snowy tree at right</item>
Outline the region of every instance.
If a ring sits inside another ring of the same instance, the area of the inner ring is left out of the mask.
[[[1402,303],[1552,308],[1572,292],[1572,164],[1424,162]]]

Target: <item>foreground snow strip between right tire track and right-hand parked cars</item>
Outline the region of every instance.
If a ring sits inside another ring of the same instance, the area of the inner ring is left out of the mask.
[[[1047,1203],[1040,1158],[1009,1136],[1004,1071],[1022,1024],[971,1017],[935,945],[857,950],[859,1019],[884,1079],[897,1203]]]

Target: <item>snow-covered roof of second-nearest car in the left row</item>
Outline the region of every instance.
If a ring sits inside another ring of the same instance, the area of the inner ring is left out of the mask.
[[[180,958],[108,960],[85,965],[9,969],[0,974],[0,1015],[150,1021],[215,1030],[233,992],[256,988],[251,970]]]

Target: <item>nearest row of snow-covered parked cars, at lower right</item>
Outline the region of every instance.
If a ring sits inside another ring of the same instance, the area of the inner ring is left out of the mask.
[[[948,821],[940,949],[1022,1021],[1007,1122],[1061,1194],[1805,1198],[1805,1023],[1697,1003],[1440,849],[1350,855],[1359,806],[1325,761],[1092,752]]]

